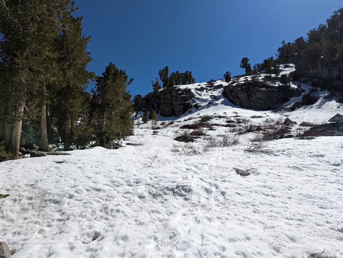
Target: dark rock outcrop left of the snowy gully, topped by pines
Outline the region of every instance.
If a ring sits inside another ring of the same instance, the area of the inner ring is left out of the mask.
[[[155,110],[164,117],[180,116],[192,108],[190,103],[192,98],[194,98],[194,94],[190,89],[161,90],[157,94],[149,93],[141,101],[134,103],[134,109],[136,111]]]

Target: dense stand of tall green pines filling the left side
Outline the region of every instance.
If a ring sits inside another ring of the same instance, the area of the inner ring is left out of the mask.
[[[105,147],[132,134],[133,79],[113,63],[99,77],[86,69],[91,37],[76,10],[70,0],[0,1],[0,145],[13,158],[21,145]]]

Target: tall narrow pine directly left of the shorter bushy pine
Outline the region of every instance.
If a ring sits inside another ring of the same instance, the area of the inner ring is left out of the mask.
[[[91,37],[82,36],[82,17],[65,15],[62,18],[63,28],[57,38],[59,66],[63,73],[62,87],[55,97],[55,115],[64,124],[64,150],[70,148],[72,129],[81,115],[84,92],[88,82],[95,74],[86,70],[92,60],[86,51]]]

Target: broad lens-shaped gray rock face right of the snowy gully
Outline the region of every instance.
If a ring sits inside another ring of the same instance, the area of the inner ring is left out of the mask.
[[[247,109],[273,110],[303,90],[263,82],[247,82],[224,87],[223,96],[234,105]]]

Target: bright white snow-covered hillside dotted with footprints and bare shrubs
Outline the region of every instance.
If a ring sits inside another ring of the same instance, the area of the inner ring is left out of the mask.
[[[0,200],[0,241],[12,257],[342,257],[343,137],[283,138],[248,152],[259,132],[240,130],[288,117],[296,135],[299,123],[326,122],[343,104],[318,91],[317,103],[292,112],[247,110],[201,86],[182,86],[199,109],[159,116],[167,125],[157,134],[136,118],[118,150],[0,163],[0,193],[10,194]],[[204,116],[206,135],[174,140]],[[225,136],[239,143],[210,146]]]

